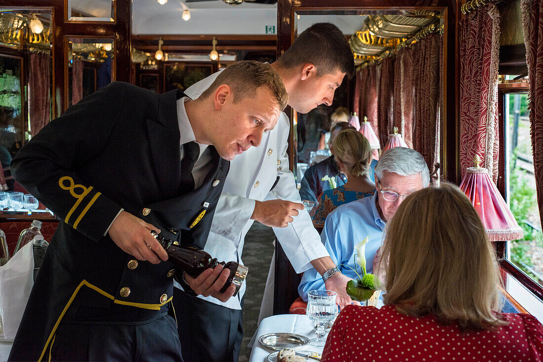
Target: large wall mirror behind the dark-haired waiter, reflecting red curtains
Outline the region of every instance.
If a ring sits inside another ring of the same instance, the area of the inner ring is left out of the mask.
[[[356,73],[344,78],[331,106],[320,105],[302,115],[292,111],[291,157],[296,182],[315,161],[331,155],[327,150],[330,126],[347,122],[357,113],[367,117],[380,141],[378,159],[394,129],[407,145],[425,156],[431,173],[442,170],[446,9],[318,10],[295,8],[293,39],[316,22],[331,22],[343,31],[353,54]],[[343,108],[344,117],[338,118]],[[336,115],[333,113],[336,112]],[[333,115],[333,116],[332,116]],[[332,120],[333,119],[333,120]],[[373,148],[373,147],[372,147]]]

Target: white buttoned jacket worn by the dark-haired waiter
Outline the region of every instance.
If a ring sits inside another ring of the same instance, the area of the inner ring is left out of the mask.
[[[188,87],[185,94],[192,99],[198,98],[218,74],[213,73]],[[245,234],[254,221],[251,215],[255,209],[255,200],[282,199],[301,203],[294,175],[288,167],[287,140],[290,129],[288,117],[282,112],[275,128],[263,135],[259,147],[249,148],[230,162],[230,172],[226,176],[204,248],[219,261],[242,263]],[[277,176],[279,181],[270,190]],[[274,227],[273,230],[298,273],[312,268],[310,262],[313,259],[329,256],[305,210],[300,211],[287,227]],[[176,287],[180,285],[176,284]],[[213,297],[198,297],[230,309],[241,309],[240,302],[244,293],[245,283],[236,297],[224,303]]]

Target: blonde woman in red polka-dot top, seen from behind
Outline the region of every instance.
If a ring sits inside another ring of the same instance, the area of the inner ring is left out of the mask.
[[[496,252],[458,187],[409,195],[387,225],[381,259],[384,306],[343,309],[322,362],[543,360],[541,323],[500,312]]]

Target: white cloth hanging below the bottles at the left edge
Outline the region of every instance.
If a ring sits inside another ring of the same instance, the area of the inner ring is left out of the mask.
[[[4,327],[4,340],[15,338],[34,285],[34,253],[32,243],[0,266],[0,314]]]

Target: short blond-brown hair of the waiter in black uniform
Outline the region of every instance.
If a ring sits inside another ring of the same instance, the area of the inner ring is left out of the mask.
[[[288,102],[288,94],[279,74],[268,63],[256,60],[243,60],[233,63],[217,75],[209,88],[202,93],[202,98],[213,94],[220,85],[226,84],[232,90],[234,103],[253,97],[256,90],[266,86],[273,93],[281,111]]]

